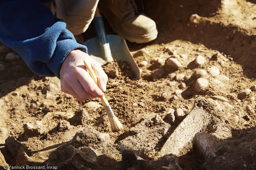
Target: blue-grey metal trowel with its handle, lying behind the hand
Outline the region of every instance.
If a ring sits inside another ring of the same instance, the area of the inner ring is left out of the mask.
[[[131,70],[134,71],[136,79],[140,79],[139,67],[131,55],[125,39],[119,35],[107,35],[101,16],[94,17],[92,22],[96,29],[96,37],[84,42],[88,48],[88,54],[101,65],[114,59],[127,61]]]

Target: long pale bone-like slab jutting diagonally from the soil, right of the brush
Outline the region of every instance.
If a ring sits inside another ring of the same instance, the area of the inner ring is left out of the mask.
[[[180,122],[178,127],[168,137],[157,157],[164,156],[168,153],[181,156],[186,154],[184,152],[186,149],[192,148],[194,135],[206,129],[212,122],[211,113],[204,110],[203,106],[204,108],[209,107],[214,110],[216,105],[211,100],[207,101],[203,97],[197,98],[190,113],[188,113],[186,118]]]

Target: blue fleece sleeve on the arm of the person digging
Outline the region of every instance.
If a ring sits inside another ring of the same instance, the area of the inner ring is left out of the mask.
[[[0,41],[17,52],[34,73],[58,78],[70,51],[87,52],[66,23],[39,0],[0,1]]]

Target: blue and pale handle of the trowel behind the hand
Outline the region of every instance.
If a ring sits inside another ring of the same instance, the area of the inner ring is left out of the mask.
[[[113,57],[111,55],[109,41],[105,31],[102,17],[101,16],[94,17],[92,22],[96,29],[97,38],[99,39],[99,45],[101,47],[103,54],[105,55],[105,59],[107,61],[113,61]]]

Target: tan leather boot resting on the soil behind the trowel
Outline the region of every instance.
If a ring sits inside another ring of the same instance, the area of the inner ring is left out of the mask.
[[[138,13],[134,0],[99,0],[100,13],[113,31],[130,42],[147,43],[156,39],[156,23]]]

